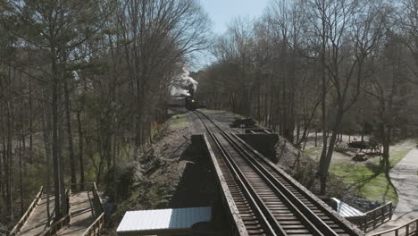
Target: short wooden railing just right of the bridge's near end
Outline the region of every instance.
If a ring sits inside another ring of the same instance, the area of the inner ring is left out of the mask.
[[[388,222],[392,218],[392,215],[393,205],[392,202],[389,202],[366,212],[364,217],[357,217],[348,220],[355,223],[360,230],[370,232],[379,227],[381,224]]]

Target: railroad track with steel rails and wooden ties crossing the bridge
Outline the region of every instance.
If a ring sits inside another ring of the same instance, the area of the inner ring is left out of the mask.
[[[364,235],[236,134],[195,111],[247,235]]]

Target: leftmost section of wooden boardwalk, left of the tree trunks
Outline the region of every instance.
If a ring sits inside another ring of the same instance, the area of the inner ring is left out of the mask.
[[[49,196],[50,212],[54,210],[54,195]],[[21,227],[19,236],[34,236],[39,235],[46,230],[46,194],[42,195],[37,207],[29,215],[29,219]]]

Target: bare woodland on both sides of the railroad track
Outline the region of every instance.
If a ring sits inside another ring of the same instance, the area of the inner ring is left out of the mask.
[[[389,170],[390,144],[418,131],[416,0],[273,0],[219,37],[195,0],[0,0],[0,32],[4,232],[41,185],[55,219],[65,186],[116,186],[197,52],[213,55],[190,73],[207,107],[251,116],[301,149],[323,137],[321,194],[342,134],[371,136]]]

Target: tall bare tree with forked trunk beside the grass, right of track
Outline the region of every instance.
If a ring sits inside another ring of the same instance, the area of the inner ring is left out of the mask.
[[[388,8],[380,10],[381,2],[372,1],[307,1],[308,19],[322,46],[322,93],[330,83],[330,95],[336,108],[332,112],[331,137],[323,140],[318,173],[321,194],[325,194],[330,160],[341,132],[341,122],[347,110],[355,104],[364,82],[364,63],[382,35]],[[325,79],[327,78],[327,79]],[[325,96],[322,101],[322,135],[325,131]]]

